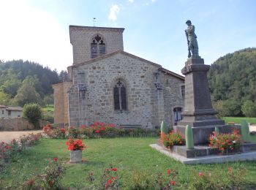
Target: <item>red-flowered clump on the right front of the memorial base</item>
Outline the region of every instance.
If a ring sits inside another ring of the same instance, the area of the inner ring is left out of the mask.
[[[241,147],[241,134],[238,130],[233,129],[231,134],[213,134],[208,138],[209,146],[218,148],[220,153],[236,151]]]

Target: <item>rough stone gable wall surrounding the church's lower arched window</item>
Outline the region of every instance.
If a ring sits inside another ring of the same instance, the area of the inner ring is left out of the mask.
[[[118,53],[114,56],[73,68],[74,86],[78,86],[78,72],[85,72],[86,111],[84,122],[80,122],[79,111],[74,112],[71,125],[88,124],[94,121],[135,125],[152,128],[159,126],[156,112],[156,99],[153,72],[157,64],[148,64],[136,58]],[[114,110],[113,86],[118,79],[127,85],[128,110]],[[77,92],[78,93],[78,92]],[[69,107],[78,107],[81,97],[69,96]],[[74,105],[72,105],[74,103]],[[75,105],[76,104],[76,105]],[[69,109],[69,110],[70,110]],[[70,118],[71,121],[71,118]]]

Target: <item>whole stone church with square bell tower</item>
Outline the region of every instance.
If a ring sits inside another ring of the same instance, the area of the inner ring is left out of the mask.
[[[181,120],[184,77],[124,51],[124,28],[69,26],[69,79],[53,85],[54,122],[94,121],[124,127],[169,126]]]

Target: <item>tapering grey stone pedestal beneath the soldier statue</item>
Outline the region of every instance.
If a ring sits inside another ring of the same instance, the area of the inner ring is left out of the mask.
[[[206,144],[208,136],[218,126],[221,131],[229,131],[225,122],[216,117],[217,112],[211,104],[207,72],[203,58],[188,58],[181,70],[185,75],[184,118],[178,122],[176,131],[184,134],[185,126],[192,126],[195,145]],[[227,128],[227,129],[226,129]]]

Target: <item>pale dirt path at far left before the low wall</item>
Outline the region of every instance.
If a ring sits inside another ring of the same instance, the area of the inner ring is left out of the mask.
[[[18,138],[20,136],[22,136],[23,134],[30,134],[30,133],[34,133],[37,134],[39,132],[42,132],[41,130],[37,130],[37,131],[22,131],[22,132],[0,132],[0,142],[4,141],[4,142],[10,142],[13,139],[18,140]]]

